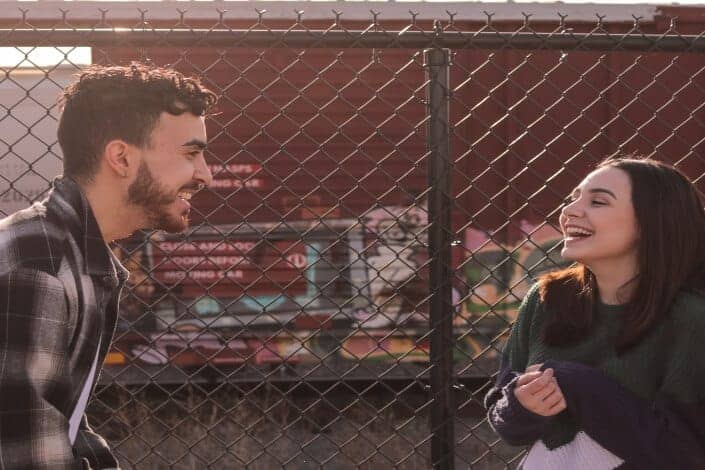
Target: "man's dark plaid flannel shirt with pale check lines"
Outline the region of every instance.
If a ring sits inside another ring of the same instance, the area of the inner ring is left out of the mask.
[[[68,178],[0,221],[0,469],[118,467],[85,415],[72,445],[69,419],[108,352],[126,278]]]

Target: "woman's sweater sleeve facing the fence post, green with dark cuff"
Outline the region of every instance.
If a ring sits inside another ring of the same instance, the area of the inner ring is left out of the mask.
[[[514,387],[526,369],[531,318],[538,303],[533,286],[519,307],[517,320],[502,352],[500,370],[494,386],[485,396],[490,425],[510,445],[527,445],[541,438],[551,421],[525,409],[514,396]]]

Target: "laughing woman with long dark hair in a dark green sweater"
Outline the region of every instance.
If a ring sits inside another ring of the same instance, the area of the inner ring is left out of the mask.
[[[560,215],[485,398],[534,469],[705,469],[705,210],[672,166],[610,158]]]

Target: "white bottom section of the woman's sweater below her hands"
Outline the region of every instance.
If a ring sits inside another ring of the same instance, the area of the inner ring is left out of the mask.
[[[624,460],[580,431],[568,444],[549,450],[543,441],[531,446],[519,466],[522,470],[612,470]]]

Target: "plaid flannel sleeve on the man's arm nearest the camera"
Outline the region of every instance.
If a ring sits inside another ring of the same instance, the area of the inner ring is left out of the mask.
[[[0,469],[82,468],[61,411],[71,394],[61,282],[19,268],[0,275]]]

